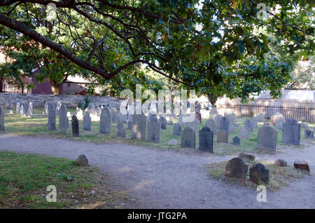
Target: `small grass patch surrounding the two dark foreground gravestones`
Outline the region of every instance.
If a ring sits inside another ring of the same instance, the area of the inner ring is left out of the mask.
[[[214,179],[226,182],[227,184],[241,184],[245,187],[256,189],[258,185],[249,180],[249,168],[255,163],[262,163],[269,170],[269,185],[265,186],[267,189],[273,191],[286,187],[290,182],[294,182],[307,174],[305,171],[295,169],[293,166],[280,167],[267,161],[246,161],[245,163],[248,165],[248,172],[246,180],[242,181],[231,177],[225,177],[225,166],[227,163],[228,161],[210,163],[206,165],[207,173]]]

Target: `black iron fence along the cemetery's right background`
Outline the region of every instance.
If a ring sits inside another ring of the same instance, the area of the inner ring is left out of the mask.
[[[272,114],[279,112],[283,114],[285,119],[294,118],[297,121],[315,122],[314,107],[225,103],[218,104],[216,109],[218,112],[225,112],[228,109],[231,109],[237,116],[245,117],[252,117],[261,113],[265,116],[265,119],[269,119]]]

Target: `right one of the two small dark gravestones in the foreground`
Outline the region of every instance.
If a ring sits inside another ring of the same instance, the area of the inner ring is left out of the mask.
[[[254,184],[269,184],[269,170],[262,163],[255,163],[249,168],[249,180]]]

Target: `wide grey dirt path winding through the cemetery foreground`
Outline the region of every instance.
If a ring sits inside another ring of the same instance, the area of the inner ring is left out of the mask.
[[[231,156],[202,156],[160,151],[127,144],[89,144],[53,138],[1,134],[0,151],[36,153],[75,159],[85,154],[91,165],[109,173],[115,187],[127,190],[131,200],[123,208],[315,208],[315,176],[276,192],[267,192],[267,203],[256,201],[257,191],[212,180],[204,164]],[[315,173],[315,146],[286,149],[274,155],[257,155],[274,161],[283,158],[311,163]]]

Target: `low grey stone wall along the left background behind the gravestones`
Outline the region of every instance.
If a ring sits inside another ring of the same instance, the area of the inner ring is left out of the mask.
[[[86,96],[83,95],[36,95],[36,94],[17,94],[0,93],[0,105],[8,107],[9,102],[15,107],[16,102],[33,102],[34,108],[44,107],[45,102],[63,102],[66,107],[76,108],[80,102],[85,104]],[[94,106],[103,105],[105,107],[116,107],[119,109],[120,102],[114,97],[89,96],[90,104]]]

